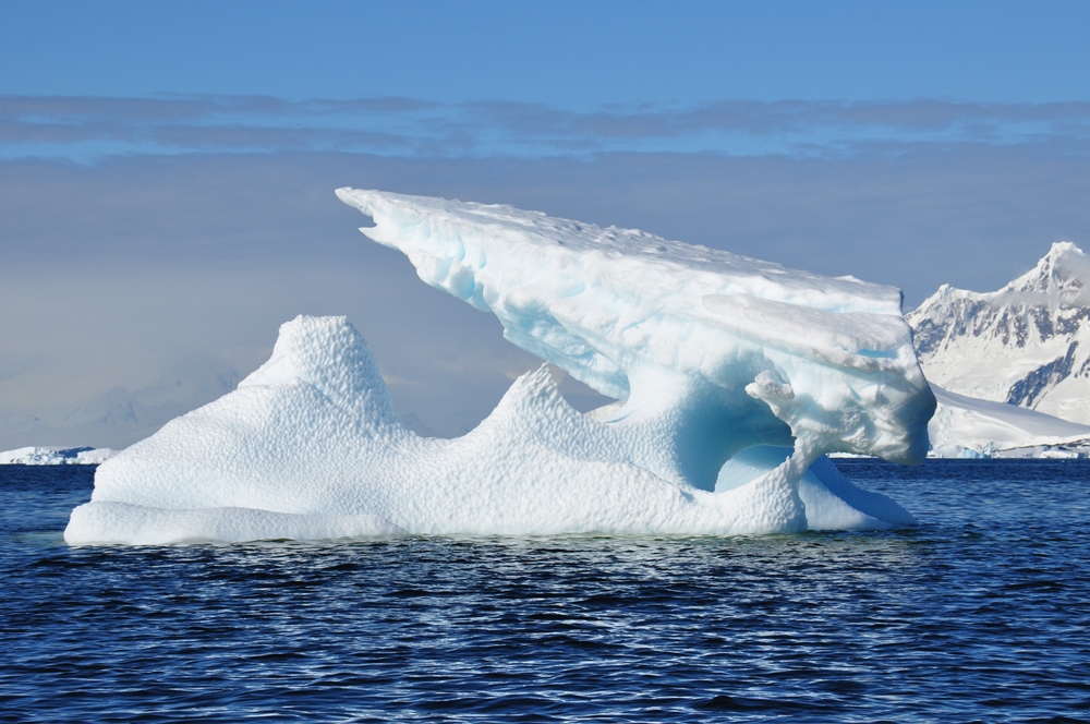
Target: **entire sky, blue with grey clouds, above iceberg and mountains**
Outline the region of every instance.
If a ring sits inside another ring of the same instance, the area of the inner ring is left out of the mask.
[[[1086,2],[0,3],[0,449],[122,445],[347,314],[452,435],[536,361],[342,185],[988,291],[1090,248]],[[566,383],[577,405],[590,390]]]

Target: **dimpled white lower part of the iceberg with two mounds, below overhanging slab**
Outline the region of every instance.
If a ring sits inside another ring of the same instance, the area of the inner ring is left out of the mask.
[[[661,439],[666,426],[595,417],[568,406],[543,366],[463,437],[421,437],[398,422],[352,325],[300,316],[238,389],[104,462],[64,538],[735,534],[913,522],[824,457],[799,469],[791,448],[747,448],[701,490],[677,472],[675,431]]]

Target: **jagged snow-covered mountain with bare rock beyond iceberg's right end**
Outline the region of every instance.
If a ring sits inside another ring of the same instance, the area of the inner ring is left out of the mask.
[[[943,285],[907,319],[934,385],[1090,424],[1090,257],[1075,244],[998,291]]]

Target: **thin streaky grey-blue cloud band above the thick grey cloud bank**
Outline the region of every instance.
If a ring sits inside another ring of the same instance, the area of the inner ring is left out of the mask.
[[[714,152],[841,157],[906,144],[1034,145],[1090,153],[1090,102],[720,101],[574,112],[519,102],[436,104],[178,96],[0,97],[0,157],[337,150],[401,157]]]

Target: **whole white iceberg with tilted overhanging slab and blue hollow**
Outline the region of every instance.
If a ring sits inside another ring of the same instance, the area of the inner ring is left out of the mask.
[[[580,413],[543,365],[467,435],[422,437],[348,319],[300,316],[238,389],[105,462],[65,540],[913,522],[824,457],[927,454],[935,398],[898,290],[509,206],[337,193],[424,281],[618,402]]]

